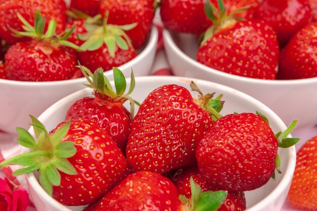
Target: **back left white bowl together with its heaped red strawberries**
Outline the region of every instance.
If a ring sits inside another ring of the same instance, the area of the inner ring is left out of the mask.
[[[16,126],[27,125],[28,114],[37,116],[85,88],[78,64],[101,67],[109,78],[112,67],[126,76],[131,69],[138,70],[136,76],[150,73],[158,37],[155,5],[93,2],[0,4],[0,131],[16,134]]]

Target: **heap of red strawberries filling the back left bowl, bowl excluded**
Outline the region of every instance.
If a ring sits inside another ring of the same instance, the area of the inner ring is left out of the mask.
[[[154,0],[0,2],[0,78],[55,81],[105,71],[137,56],[152,26]],[[3,67],[2,67],[3,69]]]

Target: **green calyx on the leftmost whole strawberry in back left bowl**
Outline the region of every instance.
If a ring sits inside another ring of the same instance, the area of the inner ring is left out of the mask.
[[[80,47],[66,40],[73,32],[75,26],[57,35],[57,23],[54,19],[52,19],[49,22],[46,32],[44,33],[46,19],[44,16],[41,15],[39,10],[36,10],[36,12],[34,13],[34,26],[31,26],[31,24],[27,22],[27,20],[25,20],[20,13],[17,13],[17,16],[19,20],[24,24],[22,27],[25,31],[17,31],[8,26],[9,29],[14,32],[17,37],[28,36],[37,39],[39,43],[46,44],[44,46],[51,46],[52,48],[66,46],[80,51]],[[41,50],[43,50],[43,52],[46,54],[50,54],[53,51],[48,50],[48,48],[41,48]]]

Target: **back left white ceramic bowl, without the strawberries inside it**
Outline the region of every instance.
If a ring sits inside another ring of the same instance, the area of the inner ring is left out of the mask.
[[[138,56],[118,67],[130,77],[131,68],[135,76],[149,75],[155,57],[158,32],[152,27],[147,43],[138,51]],[[112,71],[105,76],[113,78]],[[28,114],[38,116],[61,98],[85,88],[86,78],[62,81],[28,82],[0,79],[0,131],[15,134],[15,128],[27,127]]]

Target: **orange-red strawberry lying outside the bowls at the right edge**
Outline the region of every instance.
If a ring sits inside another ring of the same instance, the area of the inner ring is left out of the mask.
[[[317,136],[297,152],[296,167],[287,199],[302,210],[317,210]]]

